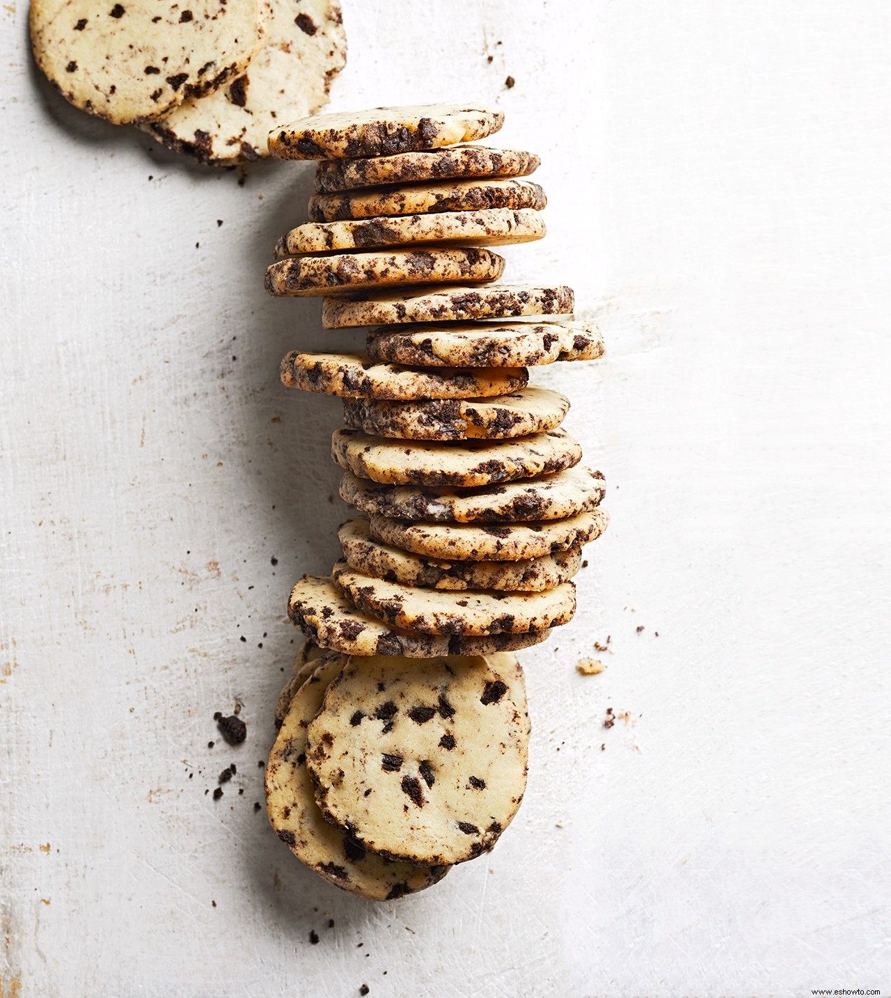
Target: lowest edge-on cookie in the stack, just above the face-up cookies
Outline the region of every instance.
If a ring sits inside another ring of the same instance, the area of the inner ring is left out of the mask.
[[[515,652],[544,641],[550,631],[493,634],[484,638],[429,634],[389,628],[356,610],[328,577],[304,575],[291,590],[287,605],[294,624],[322,648],[344,655],[488,655]]]

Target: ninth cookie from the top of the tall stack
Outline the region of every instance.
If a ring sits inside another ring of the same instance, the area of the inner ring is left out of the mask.
[[[553,430],[569,412],[559,391],[527,385],[494,398],[386,402],[343,400],[347,426],[378,436],[406,440],[501,440]]]

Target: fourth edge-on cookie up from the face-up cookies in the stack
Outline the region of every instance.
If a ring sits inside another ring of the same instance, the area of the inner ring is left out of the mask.
[[[368,529],[372,537],[385,544],[427,558],[514,561],[541,558],[587,544],[600,537],[609,522],[609,513],[598,506],[565,520],[485,525],[416,523],[372,513]]]

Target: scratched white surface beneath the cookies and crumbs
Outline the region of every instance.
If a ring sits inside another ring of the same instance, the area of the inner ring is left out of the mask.
[[[360,337],[262,289],[308,168],[239,187],[73,111],[12,0],[0,996],[888,995],[891,8],[344,8],[331,107],[499,104],[550,196],[507,277],[573,284],[608,336],[535,376],[573,399],[613,524],[575,622],[523,656],[526,801],[388,905],[254,812],[287,591],[347,514],[338,405],[277,363]],[[236,700],[246,744],[208,749]]]

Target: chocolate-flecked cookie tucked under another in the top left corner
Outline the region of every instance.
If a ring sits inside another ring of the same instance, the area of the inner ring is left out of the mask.
[[[262,48],[246,73],[202,98],[190,98],[144,130],[201,163],[268,156],[277,123],[304,118],[328,101],[346,63],[337,0],[265,0]],[[296,12],[296,13],[295,13]]]

